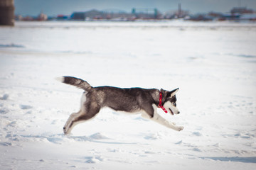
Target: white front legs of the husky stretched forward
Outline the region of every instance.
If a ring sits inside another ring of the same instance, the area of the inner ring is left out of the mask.
[[[157,113],[157,107],[156,105],[153,105],[154,108],[154,116],[153,118],[150,118],[149,115],[146,116],[146,113],[142,113],[142,117],[144,118],[149,118],[150,120],[153,120],[156,123],[159,123],[161,125],[166,126],[167,128],[171,128],[173,130],[177,130],[177,131],[181,131],[183,130],[183,126],[176,126],[174,123],[170,123],[168,120],[166,120],[165,118],[161,117],[161,115],[159,115],[159,113]]]

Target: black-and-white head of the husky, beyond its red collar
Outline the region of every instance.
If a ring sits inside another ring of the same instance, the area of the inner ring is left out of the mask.
[[[179,114],[180,112],[176,107],[176,93],[178,92],[178,89],[174,89],[173,91],[165,91],[164,89],[161,89],[161,92],[163,93],[164,108],[166,108],[172,115]]]

